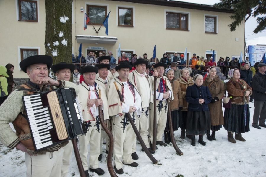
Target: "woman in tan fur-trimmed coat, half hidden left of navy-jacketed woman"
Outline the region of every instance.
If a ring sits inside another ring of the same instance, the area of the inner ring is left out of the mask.
[[[183,99],[183,108],[180,107],[179,109],[179,127],[181,128],[181,137],[182,139],[185,138],[185,130],[186,130],[186,115],[187,115],[187,102],[185,99],[186,95],[186,88],[188,86],[192,86],[194,84],[193,79],[189,76],[189,69],[184,67],[181,70],[181,76],[177,81],[180,84],[180,90],[182,94],[182,99]],[[187,136],[190,138],[189,136]]]

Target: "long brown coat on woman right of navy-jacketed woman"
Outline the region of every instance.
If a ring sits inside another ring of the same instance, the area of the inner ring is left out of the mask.
[[[223,125],[223,110],[222,110],[222,99],[225,93],[223,81],[216,75],[214,79],[210,78],[210,75],[203,81],[203,86],[207,86],[210,90],[212,98],[218,97],[218,101],[209,103],[208,107],[210,110],[210,118],[212,126]]]

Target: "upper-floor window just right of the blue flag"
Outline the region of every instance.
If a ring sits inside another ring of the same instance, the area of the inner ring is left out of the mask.
[[[133,8],[118,7],[118,26],[133,27]]]

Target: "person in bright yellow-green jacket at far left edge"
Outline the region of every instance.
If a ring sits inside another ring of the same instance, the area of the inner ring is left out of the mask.
[[[7,74],[7,68],[0,65],[0,105],[4,102],[7,98],[7,78],[9,75]]]

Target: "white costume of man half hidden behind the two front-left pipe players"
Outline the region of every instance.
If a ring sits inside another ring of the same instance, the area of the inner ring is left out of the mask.
[[[109,73],[111,73],[111,72],[109,71]],[[104,88],[104,90],[103,90],[104,93],[106,93],[106,86],[107,86],[107,84],[108,84],[109,81],[110,80],[108,79],[108,77],[106,77],[105,80],[103,80],[102,78],[100,78],[100,76],[99,77],[96,77],[96,79],[95,79],[95,82],[97,84],[99,84],[99,86],[101,88]],[[108,127],[108,121],[105,121],[105,124]],[[100,142],[100,144],[101,144],[101,146],[100,146],[100,154],[102,154],[102,152],[103,152],[103,147],[102,147],[103,142],[106,142],[106,150],[108,150],[108,146],[109,146],[108,139],[109,138],[108,138],[106,132],[102,129],[102,132],[101,132],[101,142]]]

